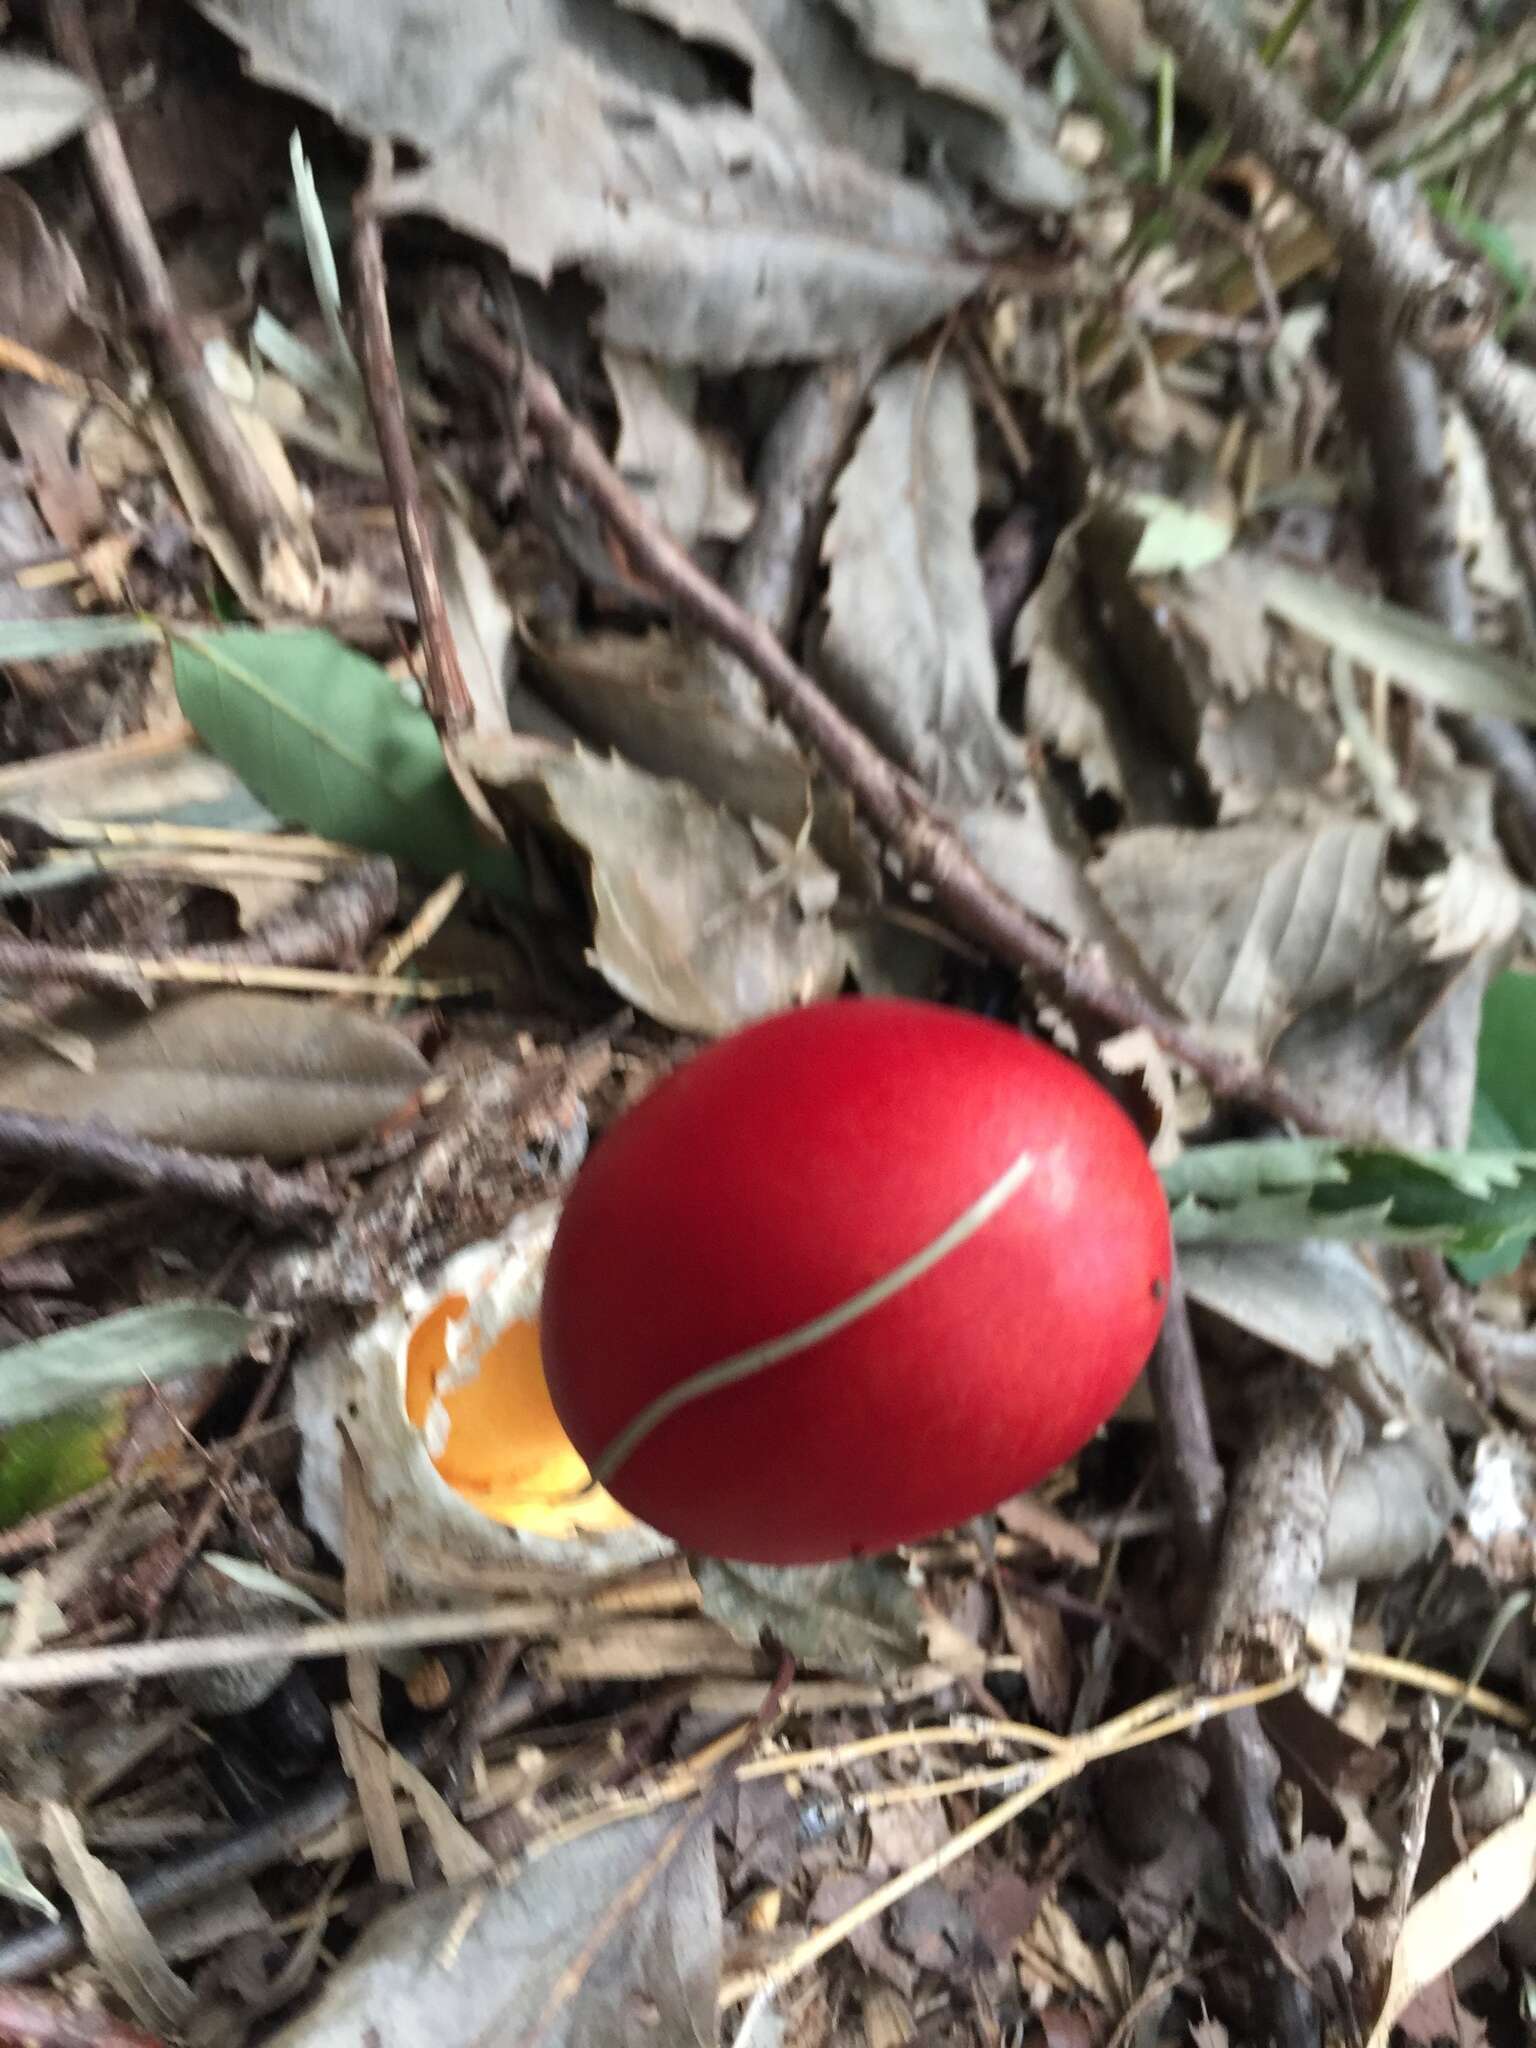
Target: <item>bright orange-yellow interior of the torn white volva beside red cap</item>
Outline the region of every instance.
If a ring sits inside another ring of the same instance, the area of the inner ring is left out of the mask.
[[[444,1294],[416,1325],[406,1352],[410,1421],[426,1427],[434,1395],[446,1411],[449,1438],[432,1454],[446,1485],[483,1516],[543,1536],[623,1528],[629,1513],[590,1485],[582,1454],[559,1425],[537,1323],[508,1323],[463,1384],[438,1386],[449,1368],[449,1323],[467,1313],[463,1294]]]

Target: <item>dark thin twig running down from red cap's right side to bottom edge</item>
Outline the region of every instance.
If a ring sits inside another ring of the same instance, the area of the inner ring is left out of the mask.
[[[1221,1546],[1225,1483],[1178,1272],[1149,1374],[1180,1554],[1184,1569],[1208,1585]],[[1274,1751],[1253,1708],[1214,1720],[1202,1747],[1237,1896],[1249,1919],[1278,1937],[1294,1898],[1274,1815]],[[1257,1966],[1274,2040],[1280,2048],[1317,2048],[1319,2023],[1309,1989],[1282,1964],[1274,1944],[1262,1950]]]

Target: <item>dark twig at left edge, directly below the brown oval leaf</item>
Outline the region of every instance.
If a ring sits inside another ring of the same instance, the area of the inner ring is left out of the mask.
[[[276,1174],[264,1159],[223,1159],[135,1139],[113,1124],[0,1110],[0,1161],[55,1174],[98,1176],[156,1194],[188,1194],[258,1223],[295,1225],[334,1217],[340,1198],[319,1182]]]

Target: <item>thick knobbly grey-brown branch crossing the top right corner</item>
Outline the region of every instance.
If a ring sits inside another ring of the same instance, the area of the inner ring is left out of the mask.
[[[1497,295],[1487,276],[1421,233],[1399,193],[1372,178],[1210,0],[1147,0],[1147,27],[1178,57],[1180,84],[1317,213],[1393,334],[1440,362],[1491,451],[1536,469],[1536,379],[1489,334]]]

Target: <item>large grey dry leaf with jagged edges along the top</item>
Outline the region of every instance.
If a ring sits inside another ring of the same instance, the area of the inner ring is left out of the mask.
[[[698,51],[635,14],[475,0],[428,51],[408,0],[203,10],[270,84],[422,152],[393,209],[543,283],[580,266],[616,346],[731,369],[891,344],[979,279],[926,186],[711,98]]]

